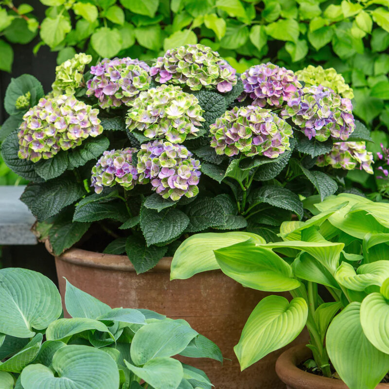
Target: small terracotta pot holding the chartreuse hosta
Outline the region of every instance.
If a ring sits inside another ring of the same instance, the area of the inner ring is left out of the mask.
[[[308,373],[297,367],[309,358],[312,358],[312,353],[308,347],[298,344],[277,359],[277,375],[286,384],[286,389],[348,389],[341,380]],[[375,389],[389,389],[389,384],[379,384]]]

